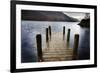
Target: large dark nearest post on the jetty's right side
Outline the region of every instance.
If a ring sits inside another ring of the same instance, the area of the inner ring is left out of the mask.
[[[73,46],[73,60],[76,60],[78,57],[78,43],[79,43],[79,35],[75,34],[74,46]]]

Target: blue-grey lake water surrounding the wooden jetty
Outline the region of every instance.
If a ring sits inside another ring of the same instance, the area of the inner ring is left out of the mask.
[[[22,21],[21,22],[21,62],[36,62],[36,34],[42,35],[42,47],[45,45],[45,29],[51,26],[52,32],[62,32],[63,26],[71,29],[70,48],[73,48],[74,34],[79,34],[78,59],[90,58],[90,30],[77,25],[79,22],[47,22]]]

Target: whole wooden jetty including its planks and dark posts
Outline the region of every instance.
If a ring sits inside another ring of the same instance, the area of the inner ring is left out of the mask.
[[[65,27],[64,27],[65,30]],[[46,28],[46,45],[42,48],[41,36],[37,38],[37,51],[38,61],[68,61],[76,60],[78,53],[78,41],[79,35],[76,34],[74,37],[74,46],[69,48],[70,30],[68,31],[67,37],[65,37],[65,31],[63,32],[52,32],[51,29]],[[40,40],[40,42],[39,42]]]

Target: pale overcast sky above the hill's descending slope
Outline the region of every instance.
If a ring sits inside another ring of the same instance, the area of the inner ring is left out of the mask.
[[[80,12],[64,12],[64,14],[73,18],[77,18],[78,20],[82,20],[83,18],[85,18],[86,15],[86,13],[80,13]]]

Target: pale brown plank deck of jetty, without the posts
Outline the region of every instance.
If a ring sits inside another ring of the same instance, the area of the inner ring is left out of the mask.
[[[67,48],[67,41],[63,40],[63,33],[52,33],[51,40],[43,48],[44,61],[66,61],[71,60],[73,49]]]

